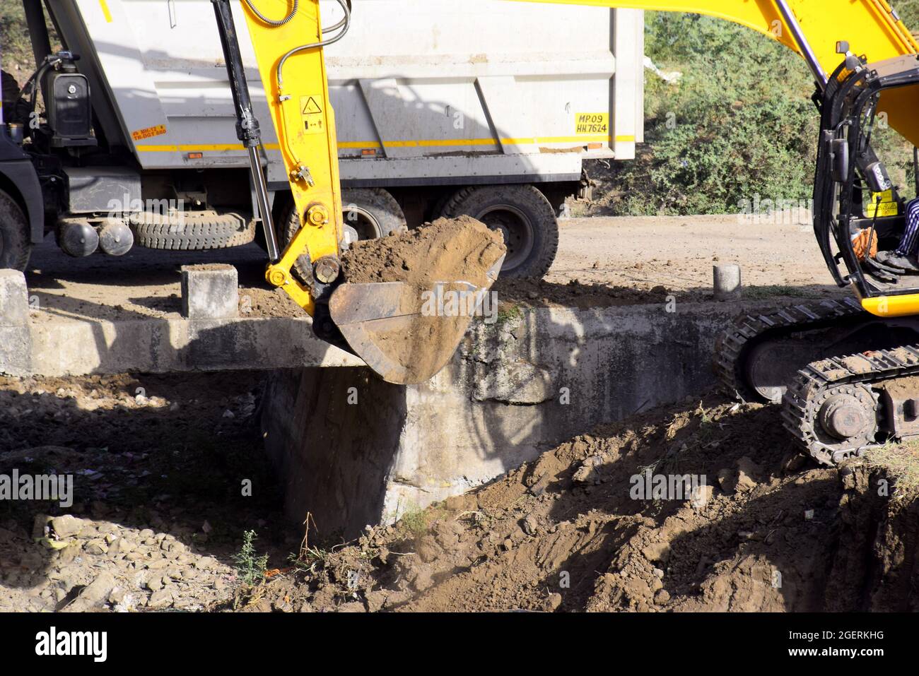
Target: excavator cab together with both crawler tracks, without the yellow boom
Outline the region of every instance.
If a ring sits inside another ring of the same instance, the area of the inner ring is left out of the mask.
[[[857,298],[739,318],[716,355],[724,389],[780,401],[785,428],[826,464],[919,434],[919,278],[884,265],[870,243],[861,253],[853,243],[877,242],[880,252],[901,245],[908,206],[872,134],[885,96],[916,96],[919,62],[914,53],[868,62],[845,43],[839,51],[845,57],[816,97],[813,222],[834,280]],[[901,131],[910,138],[910,128]]]

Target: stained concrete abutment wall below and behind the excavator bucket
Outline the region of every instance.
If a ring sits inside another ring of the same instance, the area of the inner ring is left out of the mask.
[[[772,305],[521,310],[476,321],[448,366],[416,386],[366,368],[278,372],[263,426],[287,513],[355,535],[598,423],[698,393],[714,383],[712,347],[726,323]]]

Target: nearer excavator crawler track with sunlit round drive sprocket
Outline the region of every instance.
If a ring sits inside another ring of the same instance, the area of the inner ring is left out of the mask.
[[[891,427],[891,421],[883,420],[877,386],[916,375],[919,375],[919,344],[812,362],[789,383],[782,402],[782,423],[818,462],[834,465],[847,456],[860,455],[879,445],[875,441],[879,427],[882,424]],[[841,434],[826,430],[826,410],[834,401],[842,402],[837,406],[849,407],[847,432],[854,434],[848,438],[839,438]],[[864,426],[856,430],[863,418]],[[891,429],[886,432],[894,435]]]

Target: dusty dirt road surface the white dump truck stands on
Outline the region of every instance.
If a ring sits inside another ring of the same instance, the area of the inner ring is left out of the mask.
[[[264,281],[265,254],[255,244],[213,252],[135,247],[121,258],[74,259],[53,242],[36,247],[27,275],[40,308],[93,319],[178,317],[181,265],[231,263],[240,279],[241,312],[296,313]],[[562,220],[559,253],[545,281],[496,287],[510,301],[579,306],[647,302],[652,288],[704,297],[711,266],[739,263],[750,295],[823,297],[831,286],[809,226],[748,224],[735,216]],[[577,281],[581,285],[567,288]],[[653,302],[659,298],[655,297]]]

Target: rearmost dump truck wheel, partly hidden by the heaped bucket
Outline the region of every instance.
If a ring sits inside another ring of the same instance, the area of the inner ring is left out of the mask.
[[[559,221],[537,188],[463,188],[448,200],[442,215],[455,219],[464,214],[504,235],[507,256],[501,275],[540,278],[549,272],[559,249]]]

